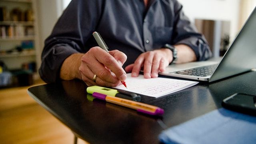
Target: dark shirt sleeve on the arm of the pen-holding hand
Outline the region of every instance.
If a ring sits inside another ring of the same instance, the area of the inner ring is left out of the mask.
[[[101,0],[72,0],[52,33],[45,40],[39,74],[47,83],[60,79],[64,60],[74,53],[88,51],[84,42],[90,37],[100,18]],[[90,28],[90,29],[88,29]]]

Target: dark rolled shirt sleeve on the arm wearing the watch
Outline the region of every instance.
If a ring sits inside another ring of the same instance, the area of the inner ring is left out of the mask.
[[[198,61],[207,60],[212,56],[209,44],[202,34],[198,32],[196,27],[191,24],[187,16],[185,16],[182,5],[178,2],[174,3],[175,24],[174,24],[174,44],[186,44],[194,50]]]

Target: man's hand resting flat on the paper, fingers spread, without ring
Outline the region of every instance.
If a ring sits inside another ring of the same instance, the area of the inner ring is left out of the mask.
[[[140,54],[134,64],[126,66],[125,70],[132,72],[132,77],[137,77],[143,67],[144,78],[157,78],[158,72],[164,72],[171,61],[172,51],[161,48]]]

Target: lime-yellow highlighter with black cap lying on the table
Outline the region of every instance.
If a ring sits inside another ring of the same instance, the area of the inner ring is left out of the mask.
[[[136,102],[140,102],[140,96],[133,93],[133,92],[128,92],[125,90],[115,90],[111,88],[105,88],[101,86],[89,86],[86,89],[88,94],[92,94],[94,92],[98,92],[100,94],[106,94],[108,96],[116,96],[118,98],[125,98],[128,100],[134,100]]]

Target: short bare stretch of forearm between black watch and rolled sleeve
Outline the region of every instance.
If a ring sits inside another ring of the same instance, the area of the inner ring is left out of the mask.
[[[192,48],[185,44],[175,45],[177,49],[178,59],[176,61],[177,64],[196,61],[196,54]]]

